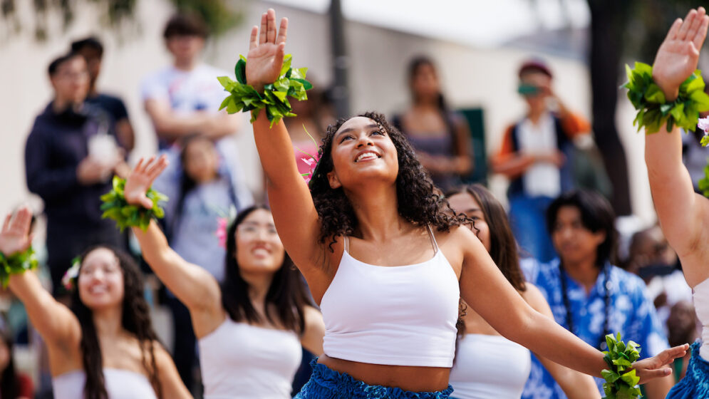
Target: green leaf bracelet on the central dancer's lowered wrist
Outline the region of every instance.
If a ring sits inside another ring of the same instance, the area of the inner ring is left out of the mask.
[[[604,351],[604,361],[609,368],[601,371],[606,380],[603,384],[606,399],[640,398],[640,388],[637,387],[640,378],[635,374],[635,370],[628,371],[633,362],[640,358],[640,346],[633,341],[627,344],[621,341],[621,333],[618,333],[617,338],[608,334],[606,345],[608,351]]]

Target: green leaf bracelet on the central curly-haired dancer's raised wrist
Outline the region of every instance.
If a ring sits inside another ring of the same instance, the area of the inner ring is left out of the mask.
[[[287,96],[296,100],[307,100],[306,90],[313,88],[313,85],[306,81],[305,76],[308,68],[291,68],[291,55],[286,54],[281,67],[281,76],[274,83],[264,86],[264,93],[259,93],[253,86],[246,83],[246,58],[239,56],[237,65],[234,66],[234,82],[227,76],[219,76],[219,83],[222,83],[224,90],[229,92],[224,98],[219,110],[227,108],[227,113],[237,113],[239,111],[251,111],[251,122],[254,123],[259,111],[265,108],[266,117],[271,122],[271,127],[285,116],[295,116]]]

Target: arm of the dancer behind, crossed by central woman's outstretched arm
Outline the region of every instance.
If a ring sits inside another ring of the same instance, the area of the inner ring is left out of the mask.
[[[524,294],[522,295],[524,296],[524,300],[527,301],[527,304],[532,306],[532,309],[554,320],[552,309],[549,308],[547,300],[544,299],[544,295],[536,286],[528,283],[527,291],[524,291]],[[547,360],[547,358],[541,356],[537,356],[537,358],[539,359],[539,363],[542,363],[542,366],[544,366],[544,368],[549,371],[549,374],[554,377],[554,380],[557,381],[561,387],[561,390],[564,390],[567,398],[601,398],[596,382],[593,378],[591,378],[591,376],[571,370],[571,368],[561,366],[559,363],[554,363],[553,361]]]

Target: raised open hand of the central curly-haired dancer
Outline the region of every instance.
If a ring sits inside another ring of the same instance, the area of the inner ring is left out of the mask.
[[[281,19],[276,32],[276,11],[269,9],[261,16],[261,28],[251,28],[249,53],[246,63],[247,83],[261,92],[265,85],[274,83],[281,74],[288,19]],[[277,33],[277,34],[276,34]]]

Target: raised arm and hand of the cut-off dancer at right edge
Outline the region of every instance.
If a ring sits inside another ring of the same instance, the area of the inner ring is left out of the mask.
[[[697,67],[709,16],[703,7],[677,19],[660,46],[653,65],[653,79],[666,99],[677,98],[680,84]],[[678,130],[677,128],[675,130]],[[662,128],[646,135],[645,162],[660,224],[671,247],[682,260],[685,278],[695,286],[709,276],[707,254],[698,251],[708,239],[705,221],[709,201],[695,194],[689,172],[682,163],[682,139],[678,132]]]

